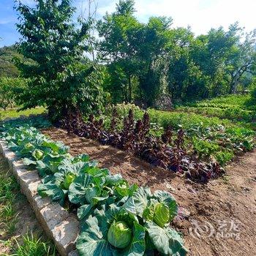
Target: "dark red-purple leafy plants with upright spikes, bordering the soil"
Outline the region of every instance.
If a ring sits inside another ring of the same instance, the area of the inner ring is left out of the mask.
[[[105,129],[103,120],[96,120],[92,115],[89,116],[89,121],[83,121],[80,113],[67,115],[62,124],[68,132],[130,151],[151,165],[184,173],[187,178],[196,181],[207,182],[223,173],[217,162],[198,162],[189,157],[184,149],[183,129],[179,129],[176,136],[170,126],[160,137],[151,135],[148,113],[144,113],[143,118],[135,122],[132,110],[129,110],[129,115],[123,119],[123,128],[118,132],[118,120],[117,110],[114,109],[110,129]]]

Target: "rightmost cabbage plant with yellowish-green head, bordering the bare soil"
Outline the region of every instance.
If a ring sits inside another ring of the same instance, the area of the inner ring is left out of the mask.
[[[170,222],[178,213],[175,198],[170,193],[140,187],[124,203],[124,209],[138,216],[146,230],[146,247],[157,250],[162,255],[186,255],[181,236],[170,227]]]

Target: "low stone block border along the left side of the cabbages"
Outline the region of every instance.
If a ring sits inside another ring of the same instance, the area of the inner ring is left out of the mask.
[[[37,220],[53,240],[59,254],[78,256],[75,241],[78,238],[79,222],[75,214],[69,214],[59,203],[51,202],[49,197],[42,198],[37,194],[37,187],[41,183],[37,170],[26,170],[23,161],[17,159],[4,140],[0,140],[0,154],[7,159],[10,170],[20,184],[21,192],[26,195]]]

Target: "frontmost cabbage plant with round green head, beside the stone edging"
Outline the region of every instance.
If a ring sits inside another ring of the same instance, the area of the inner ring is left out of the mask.
[[[112,206],[86,219],[76,246],[80,256],[139,256],[146,251],[145,236],[145,228],[133,214]]]

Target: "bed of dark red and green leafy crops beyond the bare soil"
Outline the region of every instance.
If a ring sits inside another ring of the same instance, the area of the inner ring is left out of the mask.
[[[254,131],[229,121],[195,113],[144,111],[135,105],[116,105],[88,120],[73,113],[62,127],[200,182],[222,175],[223,165],[255,146]]]

